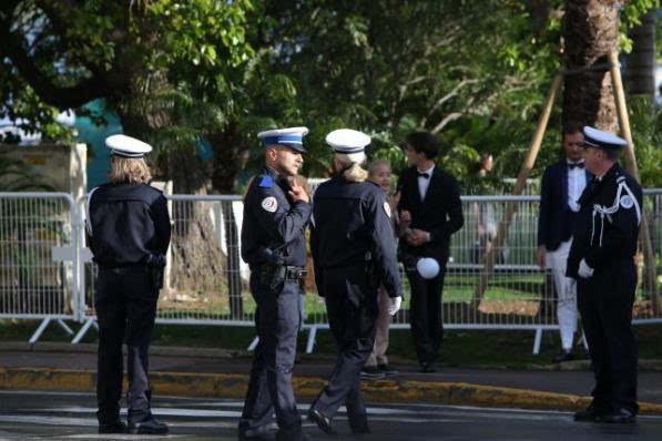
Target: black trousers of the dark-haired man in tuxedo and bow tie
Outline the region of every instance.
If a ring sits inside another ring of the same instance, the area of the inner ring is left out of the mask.
[[[444,338],[441,320],[441,294],[446,263],[439,261],[439,275],[432,279],[424,279],[416,269],[407,271],[411,299],[409,300],[409,324],[414,348],[419,363],[429,363],[439,357],[439,348]]]

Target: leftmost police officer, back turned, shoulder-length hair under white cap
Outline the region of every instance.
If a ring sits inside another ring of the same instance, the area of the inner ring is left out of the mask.
[[[150,408],[147,349],[163,284],[171,225],[163,194],[149,186],[143,155],[152,147],[113,135],[110,183],[88,196],[88,244],[99,266],[94,307],[99,320],[96,398],[99,433],[167,433]],[[128,346],[129,428],[120,420],[122,342]]]

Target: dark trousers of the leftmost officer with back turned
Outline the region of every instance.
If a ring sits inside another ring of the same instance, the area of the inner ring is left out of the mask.
[[[96,418],[102,424],[120,418],[124,341],[129,352],[129,421],[140,422],[150,416],[147,350],[157,299],[147,267],[99,269],[94,298],[99,321]]]

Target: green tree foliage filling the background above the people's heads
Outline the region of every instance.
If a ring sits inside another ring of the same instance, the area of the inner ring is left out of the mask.
[[[110,102],[151,122],[143,133],[162,157],[206,140],[218,162],[236,163],[223,168],[234,174],[230,182],[262,162],[258,131],[306,125],[305,174],[328,173],[324,136],[344,126],[370,134],[369,155],[387,158],[397,174],[406,134],[425,129],[439,137],[438,160],[464,186],[492,187],[498,177],[517,175],[562,62],[563,0],[548,3],[542,24],[530,2],[512,0],[14,3],[0,22],[23,44],[29,33],[35,38],[30,57],[54,86],[120,79],[108,84]],[[659,3],[625,3],[623,44],[628,29]],[[30,88],[11,57],[2,60],[0,113],[27,117],[28,130],[69,136],[51,125],[54,110],[43,93]],[[560,107],[533,177],[560,154]],[[642,175],[656,182],[650,165],[658,157],[656,123],[643,109],[633,110],[638,154]],[[495,156],[495,177],[472,182],[466,176],[483,152]],[[205,173],[213,177],[218,165]],[[217,191],[232,189],[218,176],[214,182]]]

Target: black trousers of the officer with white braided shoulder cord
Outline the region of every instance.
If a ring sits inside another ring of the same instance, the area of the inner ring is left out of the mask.
[[[578,306],[595,375],[593,406],[603,411],[639,410],[638,351],[632,331],[635,287],[632,260],[617,261],[577,281]]]

